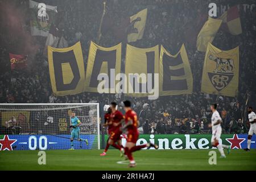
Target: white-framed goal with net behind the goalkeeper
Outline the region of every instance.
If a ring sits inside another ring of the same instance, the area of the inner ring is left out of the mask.
[[[71,113],[80,119],[75,149],[100,149],[98,103],[0,104],[0,140],[11,141],[7,150],[67,150],[71,148]],[[0,145],[1,147],[1,145]]]

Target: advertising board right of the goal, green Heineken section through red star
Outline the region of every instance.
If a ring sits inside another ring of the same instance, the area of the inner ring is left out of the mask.
[[[247,148],[247,134],[222,134],[220,143],[230,145],[231,149]],[[105,141],[108,139],[105,135]],[[170,134],[170,135],[139,135],[137,145],[147,142],[158,144],[158,150],[171,149],[210,149],[215,148],[210,144],[211,134]],[[251,148],[256,148],[256,135],[251,138]],[[122,145],[125,146],[126,139],[122,138]],[[111,147],[110,147],[111,148]],[[145,148],[146,149],[146,148]],[[151,147],[149,150],[155,150]]]

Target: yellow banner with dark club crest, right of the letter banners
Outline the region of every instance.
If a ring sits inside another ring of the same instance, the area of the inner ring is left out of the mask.
[[[239,47],[222,51],[208,43],[201,92],[234,97],[238,92]]]

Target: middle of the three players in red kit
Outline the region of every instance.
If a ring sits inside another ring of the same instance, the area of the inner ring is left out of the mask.
[[[115,148],[117,148],[118,150],[121,151],[121,153],[123,154],[124,149],[122,146],[122,142],[121,142],[121,134],[122,134],[122,130],[120,123],[123,120],[123,114],[117,110],[117,103],[116,102],[111,102],[110,108],[112,110],[112,113],[110,114],[110,121],[112,122],[113,125],[113,130],[110,133],[110,137],[109,137],[109,144]]]

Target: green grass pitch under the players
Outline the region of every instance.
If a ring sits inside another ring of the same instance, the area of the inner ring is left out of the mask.
[[[256,170],[256,150],[232,150],[226,159],[210,165],[210,150],[142,150],[134,153],[137,167],[128,168],[119,151],[48,150],[46,165],[38,164],[39,151],[0,151],[0,170]]]

